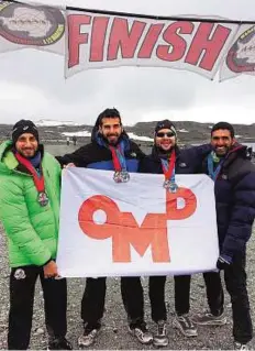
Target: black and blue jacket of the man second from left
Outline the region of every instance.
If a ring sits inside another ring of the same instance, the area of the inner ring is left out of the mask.
[[[144,153],[138,145],[129,139],[125,132],[122,133],[120,142],[124,149],[127,171],[137,172],[140,160],[144,157]],[[111,151],[97,130],[92,132],[90,144],[79,147],[71,154],[56,158],[62,165],[74,163],[77,167],[114,171]]]

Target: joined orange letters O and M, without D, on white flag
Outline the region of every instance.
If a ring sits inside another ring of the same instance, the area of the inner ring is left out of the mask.
[[[93,213],[102,210],[107,215],[103,224],[93,222]],[[166,215],[146,215],[140,227],[130,212],[120,212],[117,204],[106,196],[93,196],[86,200],[78,213],[81,230],[93,239],[112,237],[113,262],[131,262],[130,245],[143,256],[152,246],[154,262],[169,262]]]

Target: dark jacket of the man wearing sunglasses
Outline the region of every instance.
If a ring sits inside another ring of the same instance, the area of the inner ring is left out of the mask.
[[[176,174],[191,174],[201,172],[201,163],[211,151],[211,145],[201,145],[190,149],[179,150],[176,147]],[[162,162],[157,150],[154,146],[152,154],[145,156],[138,168],[140,173],[163,174]]]

